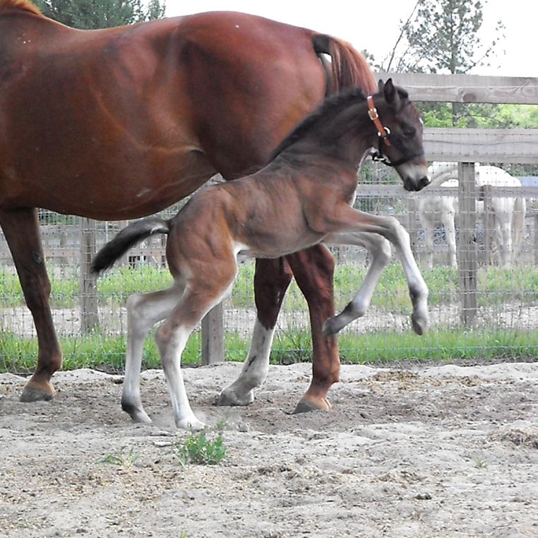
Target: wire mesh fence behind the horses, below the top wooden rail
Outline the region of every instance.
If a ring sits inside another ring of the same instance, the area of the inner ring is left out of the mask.
[[[411,301],[393,252],[369,311],[340,335],[342,361],[538,356],[538,131],[517,130],[517,141],[503,131],[506,140],[496,143],[500,131],[487,136],[479,131],[426,129],[426,155],[435,160],[431,175],[437,181],[420,193],[404,191],[395,172],[383,165],[369,162],[361,170],[355,205],[397,217],[410,233],[430,290],[431,325],[422,337],[412,334]],[[525,149],[532,144],[533,150]],[[162,215],[174,215],[180,205]],[[96,282],[88,274],[89,262],[126,221],[96,222],[42,210],[40,222],[66,366],[107,364],[121,371],[126,297],[172,282],[164,258],[166,237],[136,246]],[[331,250],[337,262],[335,301],[342,309],[357,293],[370,260],[357,247]],[[3,235],[0,264],[0,369],[31,371],[35,328]],[[248,352],[256,319],[253,274],[254,261],[243,263],[223,303],[226,359],[242,360]],[[201,361],[200,330],[191,340],[186,362],[196,364]],[[148,343],[146,366],[157,366],[148,359],[153,356]],[[278,318],[272,359],[287,364],[310,357],[309,314],[292,283]]]

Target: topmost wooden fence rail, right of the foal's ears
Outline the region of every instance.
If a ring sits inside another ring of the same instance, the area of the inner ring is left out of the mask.
[[[378,73],[378,78],[393,78],[414,101],[538,104],[535,77]]]

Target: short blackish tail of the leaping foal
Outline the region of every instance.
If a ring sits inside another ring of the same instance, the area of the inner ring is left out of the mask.
[[[102,270],[114,265],[114,262],[135,246],[137,243],[150,237],[153,234],[168,234],[170,231],[170,221],[151,217],[138,220],[122,229],[119,234],[109,241],[97,252],[90,267],[91,273],[99,274]]]

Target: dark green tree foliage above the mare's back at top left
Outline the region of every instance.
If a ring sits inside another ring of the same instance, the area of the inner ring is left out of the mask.
[[[166,9],[160,0],[150,0],[148,6],[142,0],[36,0],[35,5],[44,16],[82,30],[162,18]]]

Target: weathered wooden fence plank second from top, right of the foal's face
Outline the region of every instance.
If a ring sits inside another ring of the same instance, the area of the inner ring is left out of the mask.
[[[424,129],[428,160],[538,164],[538,129]]]

